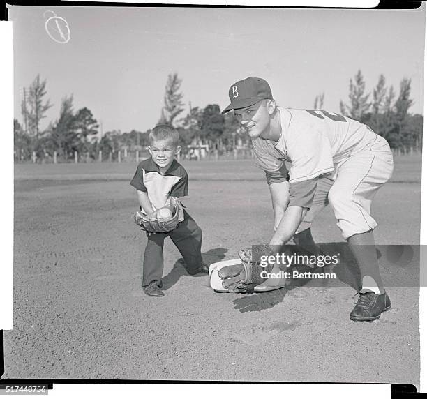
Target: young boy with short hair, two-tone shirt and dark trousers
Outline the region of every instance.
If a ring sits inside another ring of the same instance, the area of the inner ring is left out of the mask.
[[[188,175],[174,157],[181,151],[177,130],[167,125],[158,125],[149,134],[151,158],[137,166],[130,185],[137,189],[141,210],[149,215],[167,205],[170,197],[188,195]],[[142,289],[149,296],[163,296],[163,243],[170,236],[179,249],[186,270],[190,275],[208,273],[209,266],[202,259],[202,229],[183,209],[183,221],[172,232],[148,236],[142,264]]]

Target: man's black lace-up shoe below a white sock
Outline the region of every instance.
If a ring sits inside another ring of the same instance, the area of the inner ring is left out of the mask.
[[[375,292],[358,292],[359,300],[350,313],[354,322],[372,322],[380,318],[382,312],[391,308],[391,301],[387,292],[377,295]]]

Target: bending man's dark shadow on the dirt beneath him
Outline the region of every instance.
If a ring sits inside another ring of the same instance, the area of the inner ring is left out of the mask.
[[[297,246],[287,246],[292,248],[291,252],[300,253]],[[261,310],[271,309],[280,303],[285,298],[287,292],[304,287],[337,287],[349,285],[356,291],[359,290],[361,276],[357,267],[356,259],[345,242],[336,243],[320,243],[320,251],[323,255],[338,255],[339,263],[331,266],[310,268],[306,265],[291,266],[287,271],[298,271],[304,273],[310,271],[312,273],[335,273],[336,278],[329,279],[312,279],[312,278],[293,278],[289,283],[276,291],[262,292],[255,294],[237,294],[239,298],[234,299],[234,308],[239,312],[260,312]],[[377,250],[377,257],[381,257],[381,253]]]

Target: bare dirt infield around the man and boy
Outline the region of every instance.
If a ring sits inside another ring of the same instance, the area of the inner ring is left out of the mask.
[[[209,263],[271,236],[271,199],[250,161],[183,163],[183,200]],[[390,287],[392,309],[351,322],[354,289],[216,294],[165,244],[164,298],[140,289],[146,238],[133,224],[136,164],[17,165],[13,331],[4,378],[387,382],[419,386],[417,287]],[[396,159],[375,198],[379,244],[418,244],[421,158]],[[411,209],[410,213],[403,209]],[[331,209],[313,225],[343,241]],[[385,275],[393,266],[380,258]]]

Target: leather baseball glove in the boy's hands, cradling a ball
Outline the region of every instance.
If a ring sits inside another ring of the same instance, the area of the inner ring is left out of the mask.
[[[167,218],[161,218],[159,213],[162,213],[162,209],[169,209],[172,215]],[[181,209],[181,202],[176,197],[170,197],[170,205],[163,206],[156,211],[146,215],[142,211],[137,211],[133,216],[135,223],[140,226],[147,235],[155,233],[167,233],[172,232],[174,228],[178,226],[181,221],[179,218],[179,211]]]

